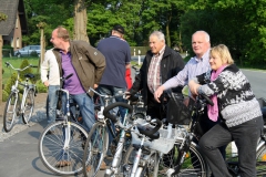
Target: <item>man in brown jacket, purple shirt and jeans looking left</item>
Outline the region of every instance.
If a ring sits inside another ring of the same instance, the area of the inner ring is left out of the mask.
[[[73,74],[61,83],[70,93],[70,103],[76,103],[89,132],[95,123],[93,93],[86,93],[90,87],[96,87],[105,69],[105,58],[85,41],[70,41],[69,32],[58,27],[50,40],[54,45],[54,54],[59,63],[60,76]]]

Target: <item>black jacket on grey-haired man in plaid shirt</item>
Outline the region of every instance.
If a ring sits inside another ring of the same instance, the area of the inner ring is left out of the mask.
[[[151,51],[146,52],[146,56],[143,61],[143,64],[140,69],[140,74],[135,76],[135,82],[133,83],[130,92],[136,93],[142,91],[144,103],[147,104],[147,72],[151,64],[153,53]],[[175,76],[181,70],[183,70],[185,63],[182,56],[172,50],[168,46],[165,46],[165,51],[161,61],[161,77],[162,84],[165,83],[168,79]],[[182,92],[182,87],[173,88],[174,92]]]

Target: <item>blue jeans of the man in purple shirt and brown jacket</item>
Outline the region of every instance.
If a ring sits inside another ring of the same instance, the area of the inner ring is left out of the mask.
[[[62,102],[64,105],[63,112],[66,112],[66,95],[62,96]],[[95,115],[94,115],[94,103],[91,96],[86,93],[72,95],[70,94],[70,111],[75,115],[75,104],[79,105],[80,113],[82,116],[83,125],[86,132],[90,132],[93,124],[95,123]]]

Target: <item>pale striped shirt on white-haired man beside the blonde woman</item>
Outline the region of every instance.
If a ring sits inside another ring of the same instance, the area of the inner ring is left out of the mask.
[[[173,76],[163,84],[164,88],[168,90],[171,87],[187,85],[191,79],[211,70],[208,61],[209,50],[200,60],[196,56],[192,58],[177,75]]]

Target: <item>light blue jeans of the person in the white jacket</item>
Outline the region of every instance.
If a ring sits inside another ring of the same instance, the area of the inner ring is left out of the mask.
[[[52,124],[55,122],[57,118],[57,105],[58,105],[58,95],[57,90],[59,90],[59,85],[49,85],[48,90],[48,124]]]

